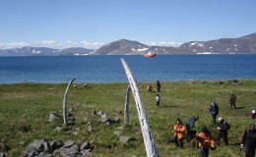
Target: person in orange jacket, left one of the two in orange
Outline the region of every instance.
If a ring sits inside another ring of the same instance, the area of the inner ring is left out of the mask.
[[[183,148],[183,140],[185,138],[186,127],[182,124],[179,118],[176,120],[176,124],[173,127],[174,137],[173,141],[177,148]]]

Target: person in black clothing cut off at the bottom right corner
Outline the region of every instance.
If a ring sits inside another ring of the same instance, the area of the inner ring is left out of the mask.
[[[256,130],[255,125],[250,124],[242,136],[241,147],[245,146],[245,157],[255,157],[256,148]]]

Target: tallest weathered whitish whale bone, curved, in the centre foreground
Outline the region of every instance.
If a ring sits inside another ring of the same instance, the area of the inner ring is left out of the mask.
[[[126,62],[124,61],[124,59],[121,58],[121,62],[122,62],[123,68],[126,72],[126,76],[129,80],[130,87],[131,87],[133,95],[134,95],[136,108],[138,111],[139,120],[140,120],[140,124],[141,124],[141,130],[143,133],[144,144],[145,144],[145,148],[146,148],[146,152],[147,152],[147,157],[158,157],[159,156],[158,149],[155,144],[155,141],[154,141],[154,138],[153,138],[153,135],[151,132],[151,128],[149,126],[147,114],[144,109],[144,105],[143,105],[143,102],[142,102],[142,99],[140,96],[140,91],[138,89],[137,82],[136,82],[135,78],[133,78],[132,72],[130,71],[130,69],[129,69],[128,65],[126,64]]]

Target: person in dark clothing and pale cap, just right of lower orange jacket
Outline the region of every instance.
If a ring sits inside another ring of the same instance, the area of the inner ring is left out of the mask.
[[[228,130],[228,125],[227,122],[224,121],[222,117],[218,119],[218,136],[216,138],[216,143],[218,146],[220,146],[220,140],[223,137],[224,138],[224,144],[228,145],[228,138],[227,138],[227,130]]]

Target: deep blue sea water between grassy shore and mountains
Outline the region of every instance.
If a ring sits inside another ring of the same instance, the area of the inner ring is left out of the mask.
[[[125,82],[124,58],[137,81],[256,78],[256,55],[0,57],[0,83]]]

